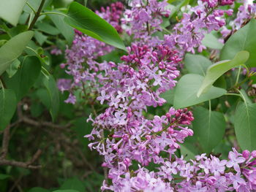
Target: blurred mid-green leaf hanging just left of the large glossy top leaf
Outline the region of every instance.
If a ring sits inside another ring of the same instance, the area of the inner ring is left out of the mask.
[[[56,10],[53,10],[53,12],[59,12]],[[63,12],[59,12],[63,14]],[[69,45],[72,43],[74,38],[74,30],[71,26],[67,25],[67,23],[64,22],[64,15],[48,15],[50,17],[50,20],[53,21],[54,25],[61,31],[61,34],[67,39],[67,42],[69,42]]]

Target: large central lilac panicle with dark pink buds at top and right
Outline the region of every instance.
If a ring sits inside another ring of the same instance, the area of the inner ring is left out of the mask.
[[[132,45],[128,50],[129,54],[121,57],[123,64],[109,62],[97,75],[97,99],[109,107],[94,120],[89,118],[94,128],[86,135],[94,141],[89,147],[104,155],[102,166],[110,169],[108,177],[113,183],[119,182],[118,177],[129,170],[132,161],[143,166],[159,164],[163,161],[159,153],[172,155],[178,143],[193,134],[187,125],[194,118],[187,109],[172,107],[166,115],[155,115],[152,120],[143,115],[148,106],[165,103],[159,94],[176,85],[176,66],[181,61],[177,53],[162,45],[156,49]]]

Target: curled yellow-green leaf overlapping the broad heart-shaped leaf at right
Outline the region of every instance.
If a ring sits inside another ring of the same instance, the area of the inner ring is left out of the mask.
[[[211,65],[206,72],[206,77],[203,79],[203,83],[197,92],[199,97],[202,93],[206,93],[208,88],[214,84],[214,82],[225,74],[228,70],[244,64],[249,58],[249,53],[247,51],[241,51],[235,55],[232,60],[219,61],[216,64]]]

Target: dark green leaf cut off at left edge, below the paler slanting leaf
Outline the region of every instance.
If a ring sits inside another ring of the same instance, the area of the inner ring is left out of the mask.
[[[10,89],[0,90],[0,131],[2,131],[12,119],[16,109],[15,92]]]

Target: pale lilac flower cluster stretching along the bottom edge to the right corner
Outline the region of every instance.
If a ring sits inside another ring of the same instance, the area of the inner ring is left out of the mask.
[[[228,160],[197,155],[195,160],[185,161],[173,155],[159,160],[158,171],[140,167],[133,172],[126,164],[118,164],[110,176],[113,185],[103,183],[102,190],[111,191],[180,191],[215,192],[256,190],[256,150],[238,153],[234,148]]]

